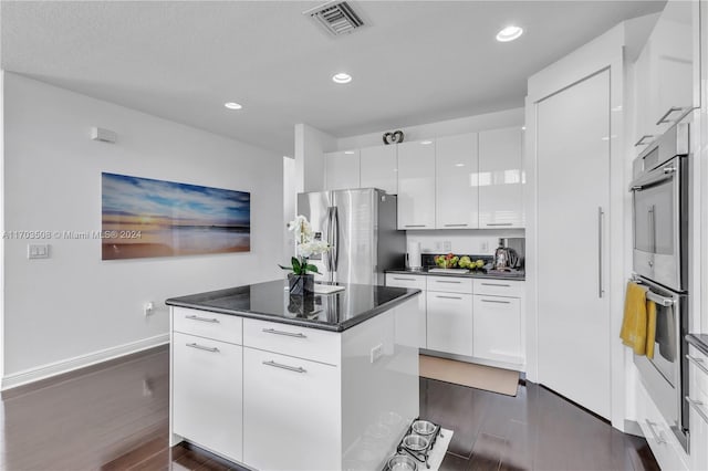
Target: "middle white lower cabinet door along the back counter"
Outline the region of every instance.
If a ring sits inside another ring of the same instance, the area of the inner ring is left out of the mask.
[[[472,295],[427,292],[427,347],[472,356]]]

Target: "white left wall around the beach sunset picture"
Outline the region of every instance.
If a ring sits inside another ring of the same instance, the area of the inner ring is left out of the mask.
[[[6,230],[101,229],[102,171],[251,192],[249,253],[104,262],[100,240],[52,239],[30,261],[6,240],[4,387],[165,342],[167,297],[282,276],[282,156],[11,73],[4,115]]]

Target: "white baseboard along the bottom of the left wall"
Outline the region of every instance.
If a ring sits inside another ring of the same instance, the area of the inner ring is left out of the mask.
[[[30,368],[23,371],[13,373],[11,375],[6,375],[2,377],[2,387],[0,389],[12,389],[18,386],[27,385],[29,383],[39,381],[40,379],[46,379],[52,376],[73,371],[74,369],[84,368],[86,366],[95,365],[101,362],[118,358],[167,343],[169,343],[169,334],[160,334],[154,337],[143,338],[142,341],[131,342],[128,344],[118,345],[116,347],[90,353],[87,355],[81,355],[73,358],[42,365],[37,368]]]

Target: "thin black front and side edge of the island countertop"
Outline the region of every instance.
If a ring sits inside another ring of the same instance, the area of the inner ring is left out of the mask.
[[[363,313],[352,318],[348,318],[346,321],[340,322],[337,324],[323,324],[323,323],[311,322],[311,321],[299,318],[299,317],[274,316],[272,314],[259,313],[254,311],[244,311],[244,310],[237,311],[237,310],[229,310],[223,307],[205,306],[199,303],[188,303],[188,302],[179,301],[179,299],[176,299],[176,297],[170,297],[168,300],[165,300],[165,304],[167,304],[168,306],[187,307],[191,310],[208,311],[208,312],[214,312],[219,314],[236,315],[239,317],[257,318],[260,321],[277,322],[280,324],[296,325],[300,327],[317,328],[320,331],[344,332],[348,328],[354,327],[355,325],[358,325],[365,321],[368,321],[372,317],[377,316],[378,314],[384,313],[385,311],[391,310],[392,307],[397,306],[398,304],[403,304],[405,301],[407,301],[408,299],[415,296],[420,292],[421,291],[418,289],[406,289],[406,292],[399,295],[398,297],[396,297],[395,300],[391,300],[368,311],[364,311]]]

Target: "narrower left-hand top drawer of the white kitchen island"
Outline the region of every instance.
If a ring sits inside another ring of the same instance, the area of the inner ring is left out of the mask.
[[[241,317],[208,311],[173,307],[173,331],[241,345]]]

